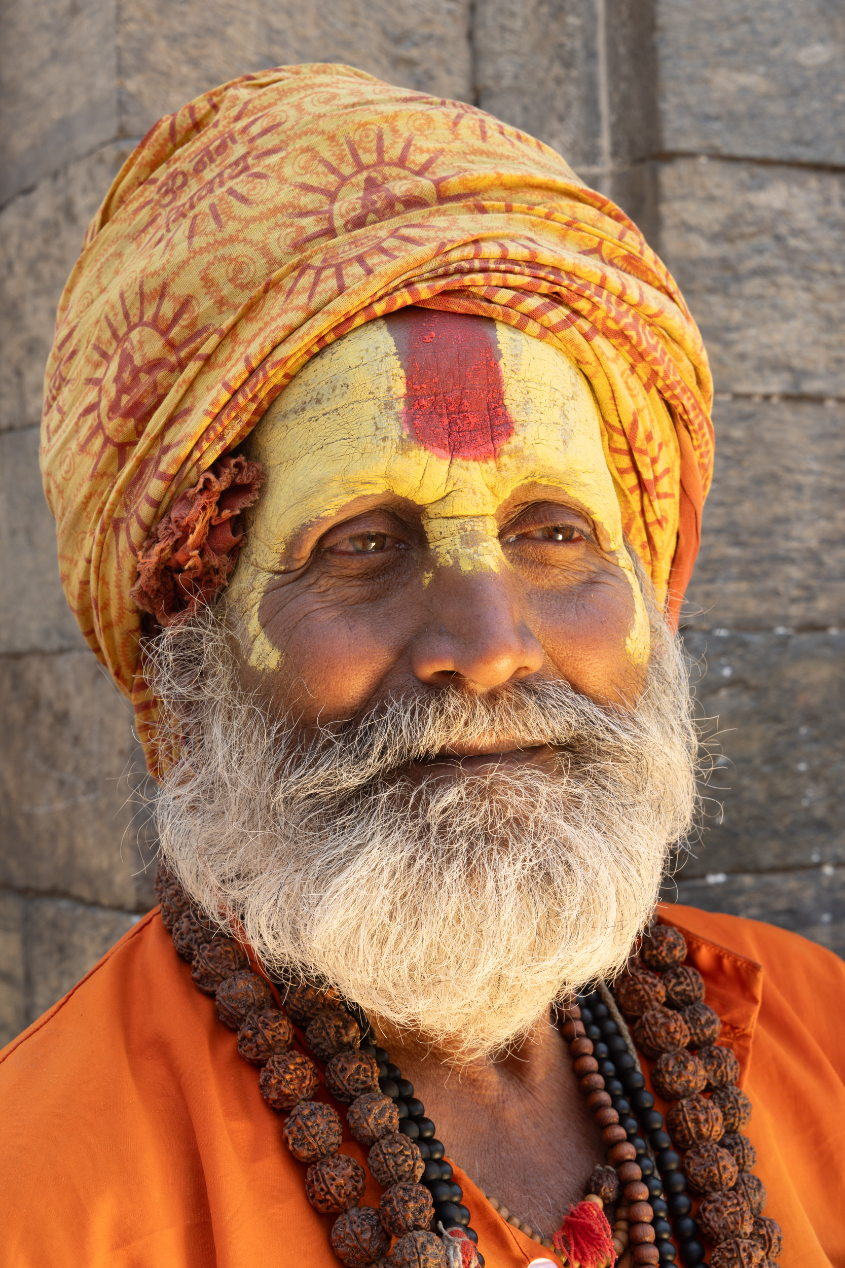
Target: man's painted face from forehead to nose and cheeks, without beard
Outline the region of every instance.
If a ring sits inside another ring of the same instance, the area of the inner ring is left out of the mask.
[[[598,411],[562,353],[404,309],[314,358],[251,456],[267,486],[229,597],[247,680],[305,728],[532,676],[636,699],[649,623]]]

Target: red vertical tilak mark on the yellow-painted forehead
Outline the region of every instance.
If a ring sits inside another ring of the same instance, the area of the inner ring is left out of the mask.
[[[402,308],[388,328],[405,372],[405,431],[438,458],[495,458],[513,435],[495,323]]]

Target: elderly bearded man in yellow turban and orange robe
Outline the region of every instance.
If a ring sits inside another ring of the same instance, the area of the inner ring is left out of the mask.
[[[0,1059],[6,1262],[845,1262],[841,964],[655,918],[708,404],[637,230],[480,112],[286,67],[144,138],[43,469],[161,907]]]

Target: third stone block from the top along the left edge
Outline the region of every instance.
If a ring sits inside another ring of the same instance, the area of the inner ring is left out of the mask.
[[[82,648],[58,579],[38,470],[38,427],[0,434],[0,653]]]

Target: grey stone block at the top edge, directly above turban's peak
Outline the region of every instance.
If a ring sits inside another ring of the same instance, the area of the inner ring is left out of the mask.
[[[120,126],[157,118],[238,75],[346,62],[389,82],[469,100],[470,0],[137,0],[120,13]]]

